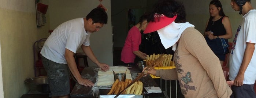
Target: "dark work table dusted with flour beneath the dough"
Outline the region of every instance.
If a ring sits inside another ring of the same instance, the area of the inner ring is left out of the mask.
[[[129,67],[128,68],[131,72],[131,78],[135,79],[138,75],[137,73],[141,73],[137,67]],[[82,78],[89,79],[94,84],[96,83],[98,77],[98,67],[85,67],[81,73]],[[143,87],[147,86],[158,86],[156,82],[151,78],[150,75],[145,76],[140,79],[143,83]],[[82,86],[78,83],[75,84],[73,90],[70,93],[71,98],[98,98],[99,97],[99,89],[102,88],[111,88],[110,86],[94,86],[94,87],[86,87]],[[163,93],[152,93],[152,94],[145,94],[144,97],[163,97]]]

